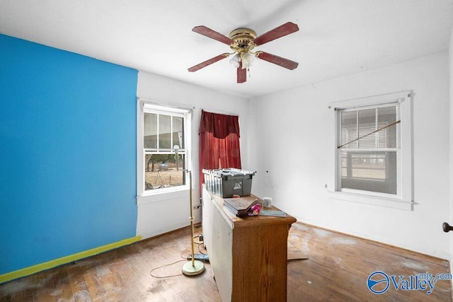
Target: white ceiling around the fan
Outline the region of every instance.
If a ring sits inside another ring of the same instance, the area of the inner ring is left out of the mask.
[[[297,69],[258,59],[241,84],[228,59],[187,70],[229,52],[194,26],[260,35],[288,21],[300,30],[255,50]],[[245,98],[445,51],[452,21],[453,0],[0,0],[5,35]]]

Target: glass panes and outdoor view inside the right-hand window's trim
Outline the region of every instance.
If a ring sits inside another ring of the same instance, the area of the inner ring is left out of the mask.
[[[396,106],[348,110],[340,118],[341,187],[396,194]]]

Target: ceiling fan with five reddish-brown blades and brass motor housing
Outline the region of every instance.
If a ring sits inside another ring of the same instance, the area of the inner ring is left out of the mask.
[[[248,28],[238,28],[236,30],[233,30],[231,33],[229,33],[229,36],[226,37],[225,35],[217,33],[216,31],[207,28],[206,26],[195,26],[195,28],[192,29],[193,32],[199,33],[200,35],[205,35],[206,37],[210,37],[214,40],[229,45],[233,52],[219,54],[217,57],[213,57],[205,62],[190,67],[188,71],[193,72],[200,70],[203,67],[220,61],[221,59],[225,59],[226,57],[229,57],[231,55],[233,55],[233,57],[229,60],[229,63],[237,68],[237,83],[244,83],[246,81],[247,69],[251,66],[255,57],[273,64],[277,64],[287,69],[295,69],[297,68],[297,65],[299,65],[299,63],[297,62],[278,57],[275,54],[270,54],[268,52],[262,52],[260,50],[252,52],[252,50],[256,46],[263,45],[267,42],[278,39],[279,37],[284,37],[285,35],[289,35],[290,33],[295,33],[297,32],[297,30],[299,30],[297,24],[287,22],[277,28],[274,28],[273,30],[269,30],[267,33],[263,33],[263,35],[259,35],[258,37],[253,30]]]

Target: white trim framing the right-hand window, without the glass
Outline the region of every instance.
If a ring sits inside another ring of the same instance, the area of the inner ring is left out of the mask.
[[[379,106],[392,103],[399,103],[400,127],[400,158],[398,161],[398,171],[401,179],[398,179],[398,192],[393,194],[382,194],[374,192],[364,192],[360,190],[340,190],[340,158],[338,158],[337,146],[339,146],[340,121],[338,110],[349,108],[366,108],[368,106]],[[335,122],[335,150],[334,150],[334,168],[333,180],[329,187],[329,198],[339,199],[348,202],[358,202],[362,204],[372,204],[382,207],[391,207],[396,209],[413,210],[413,139],[412,139],[412,91],[401,91],[397,93],[388,93],[384,95],[374,95],[367,98],[356,98],[352,100],[342,100],[333,102],[328,106],[333,112]]]

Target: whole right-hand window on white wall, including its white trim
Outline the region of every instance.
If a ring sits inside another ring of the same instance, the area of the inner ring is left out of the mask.
[[[335,197],[412,208],[411,92],[332,103]]]

